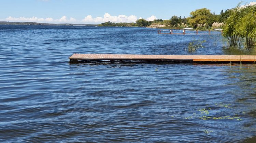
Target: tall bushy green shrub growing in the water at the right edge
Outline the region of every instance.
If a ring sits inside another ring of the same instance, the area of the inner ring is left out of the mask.
[[[241,46],[245,41],[246,48],[256,43],[256,5],[237,7],[230,11],[230,16],[223,26],[223,36],[230,46]]]

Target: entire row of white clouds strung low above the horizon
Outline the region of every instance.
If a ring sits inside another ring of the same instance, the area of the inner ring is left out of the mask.
[[[139,18],[141,19],[141,17]],[[157,19],[156,16],[152,15],[151,17],[146,18],[146,20],[153,21],[154,19]],[[46,23],[91,23],[91,24],[99,24],[107,21],[111,22],[136,22],[138,20],[137,16],[135,15],[118,15],[118,16],[112,16],[109,13],[105,13],[103,17],[93,17],[91,15],[87,15],[84,19],[76,20],[73,17],[68,18],[67,16],[62,16],[59,19],[53,19],[51,17],[48,18],[38,18],[38,17],[7,17],[5,20],[8,21],[17,21],[17,22],[46,22]]]

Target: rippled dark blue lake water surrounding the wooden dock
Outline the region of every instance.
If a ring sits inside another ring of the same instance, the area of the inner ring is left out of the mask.
[[[256,140],[254,64],[68,60],[73,53],[232,54],[221,35],[2,25],[0,38],[0,142]],[[195,39],[205,48],[188,52]]]

